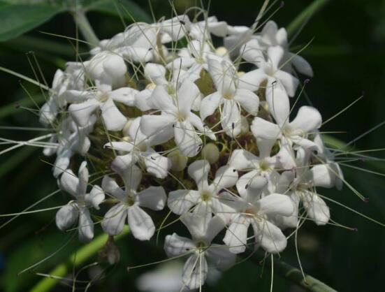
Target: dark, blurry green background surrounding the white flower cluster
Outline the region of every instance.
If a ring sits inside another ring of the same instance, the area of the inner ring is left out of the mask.
[[[149,12],[147,1],[136,1]],[[273,20],[279,27],[287,26],[311,1],[287,1]],[[204,2],[205,6],[207,2]],[[194,1],[175,1],[179,12],[194,5]],[[212,1],[210,14],[229,24],[251,25],[254,22],[262,1]],[[157,17],[170,15],[168,1],[152,0]],[[277,5],[275,5],[277,7]],[[89,21],[100,39],[122,31],[124,27],[119,18],[101,13],[89,13]],[[1,24],[1,20],[0,20]],[[0,66],[33,77],[26,53],[35,51],[38,64],[48,83],[58,65],[66,60],[74,60],[68,41],[39,33],[47,31],[64,36],[75,37],[75,25],[68,14],[60,14],[27,36],[60,43],[67,50],[38,50],[36,42],[26,38],[16,38],[0,43]],[[385,1],[349,0],[328,1],[328,4],[306,24],[293,47],[300,48],[312,38],[314,40],[301,54],[314,69],[314,78],[307,85],[306,92],[312,104],[319,109],[324,120],[335,115],[358,96],[365,92],[364,98],[349,110],[328,122],[322,131],[341,131],[333,136],[349,142],[365,131],[372,129],[385,120]],[[81,47],[80,50],[85,51]],[[32,54],[29,57],[33,59]],[[2,126],[40,126],[34,112],[13,110],[12,114],[4,110],[6,105],[13,108],[15,101],[27,98],[18,78],[0,72],[1,98],[0,124]],[[23,82],[33,96],[39,94],[36,87]],[[301,98],[300,103],[306,103]],[[29,105],[29,108],[34,108]],[[9,109],[9,108],[8,108]],[[5,113],[4,113],[5,112]],[[41,134],[38,131],[0,130],[0,136],[27,140]],[[356,149],[377,149],[385,147],[385,127],[379,128],[354,143]],[[370,153],[384,158],[383,152]],[[55,179],[50,173],[50,166],[42,161],[45,158],[40,149],[22,148],[0,156],[0,213],[20,212],[57,189]],[[384,163],[370,160],[350,163],[360,168],[385,173]],[[349,188],[339,192],[324,191],[341,203],[363,212],[379,221],[385,221],[385,180],[381,175],[365,173],[353,168],[343,168],[347,181],[369,203],[359,200]],[[39,208],[61,205],[66,202],[66,194],[58,194]],[[298,233],[298,249],[305,272],[326,282],[337,291],[384,291],[385,275],[385,232],[381,227],[358,214],[354,214],[338,205],[330,205],[332,219],[340,224],[358,228],[357,232],[336,226],[315,226],[305,223]],[[6,219],[0,218],[0,224]],[[100,228],[96,228],[99,231]],[[166,233],[163,233],[163,236]],[[17,277],[17,272],[49,256],[59,249],[66,240],[66,235],[55,226],[55,210],[25,214],[11,224],[0,229],[0,290],[27,291],[41,277],[36,272],[48,272],[52,267],[79,247],[72,240],[55,256],[39,265],[31,272]],[[134,281],[140,273],[154,267],[133,270],[129,274],[126,266],[149,263],[165,258],[161,246],[137,242],[126,237],[118,242],[121,261],[116,267],[108,268],[105,280],[92,287],[90,291],[135,291]],[[293,238],[282,259],[298,267]],[[95,258],[89,262],[95,261]],[[83,278],[87,279],[87,272]],[[252,261],[240,263],[224,274],[217,284],[207,286],[204,291],[269,291],[270,271],[266,269],[261,276],[261,268]],[[65,286],[56,286],[52,291],[71,291]],[[274,278],[273,291],[303,291],[298,286],[278,276]]]

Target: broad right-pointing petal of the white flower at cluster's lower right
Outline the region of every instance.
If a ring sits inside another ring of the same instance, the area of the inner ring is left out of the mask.
[[[269,194],[256,202],[259,214],[291,216],[294,212],[289,196]]]

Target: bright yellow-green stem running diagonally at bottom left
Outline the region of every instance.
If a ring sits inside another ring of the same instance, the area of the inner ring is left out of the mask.
[[[124,226],[122,233],[115,236],[115,240],[119,240],[129,234],[128,226]],[[108,235],[102,234],[97,238],[94,238],[92,242],[80,248],[75,253],[71,254],[66,263],[61,263],[49,272],[52,277],[45,277],[38,282],[32,289],[31,292],[48,292],[60,281],[60,278],[65,277],[68,272],[71,272],[73,268],[78,268],[80,265],[85,263],[89,258],[94,256],[99,250],[103,248],[108,240]]]

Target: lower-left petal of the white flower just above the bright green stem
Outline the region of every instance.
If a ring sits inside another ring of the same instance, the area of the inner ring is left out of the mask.
[[[107,211],[101,221],[101,227],[108,235],[118,235],[122,232],[126,219],[127,208],[124,203],[119,203]]]

